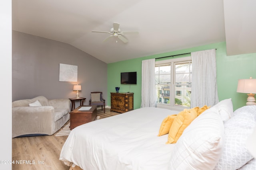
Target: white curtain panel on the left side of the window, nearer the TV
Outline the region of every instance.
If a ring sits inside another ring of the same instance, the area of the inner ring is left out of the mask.
[[[155,59],[142,61],[141,107],[156,107]]]

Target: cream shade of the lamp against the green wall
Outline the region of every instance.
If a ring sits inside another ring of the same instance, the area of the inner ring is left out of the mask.
[[[239,93],[256,94],[256,79],[240,79],[238,80],[237,90]]]

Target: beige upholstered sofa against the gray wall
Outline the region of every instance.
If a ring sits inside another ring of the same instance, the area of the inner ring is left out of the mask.
[[[42,106],[29,106],[37,101]],[[48,100],[44,96],[38,96],[14,101],[12,102],[12,137],[52,135],[70,119],[69,112],[69,99]]]

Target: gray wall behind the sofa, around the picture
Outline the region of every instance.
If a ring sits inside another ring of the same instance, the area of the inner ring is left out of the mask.
[[[78,66],[78,82],[59,82],[60,63]],[[12,31],[12,101],[74,98],[74,84],[81,84],[85,104],[93,91],[107,99],[107,64],[72,45]]]

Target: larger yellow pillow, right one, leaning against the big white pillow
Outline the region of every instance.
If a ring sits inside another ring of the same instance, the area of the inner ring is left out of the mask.
[[[172,122],[166,144],[178,141],[184,129],[197,117],[197,110],[198,108],[184,109],[178,113]]]

